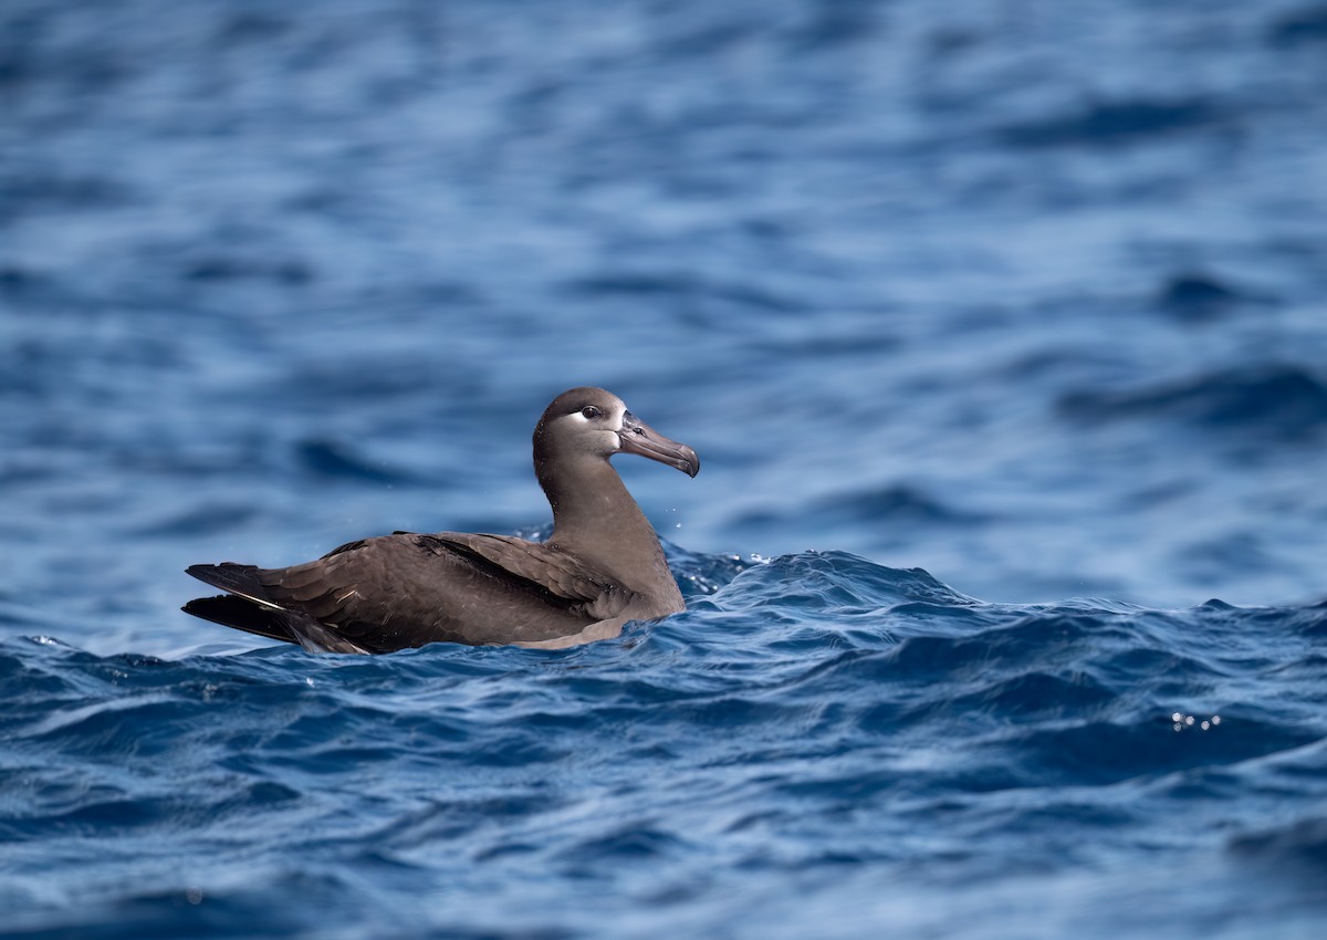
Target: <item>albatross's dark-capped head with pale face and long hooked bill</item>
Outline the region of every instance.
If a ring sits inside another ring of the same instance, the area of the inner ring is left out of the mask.
[[[535,428],[535,462],[640,454],[677,467],[689,477],[701,471],[701,459],[685,443],[670,441],[637,418],[612,392],[591,386],[571,389],[553,398]]]

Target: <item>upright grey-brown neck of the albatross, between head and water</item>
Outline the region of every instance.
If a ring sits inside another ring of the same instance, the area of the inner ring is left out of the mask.
[[[682,609],[658,535],[605,458],[564,463],[557,479],[549,479],[544,467],[536,471],[553,507],[549,544],[654,599],[658,615]]]

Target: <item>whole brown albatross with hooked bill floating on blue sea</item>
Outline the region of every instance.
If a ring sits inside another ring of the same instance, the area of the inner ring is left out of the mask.
[[[548,542],[395,532],[289,568],[195,564],[228,593],[187,613],[309,651],[387,653],[446,640],[559,648],[628,620],[686,609],[658,536],[608,459],[641,454],[694,477],[695,451],[596,388],[563,392],[535,428],[535,475],[553,507]]]

